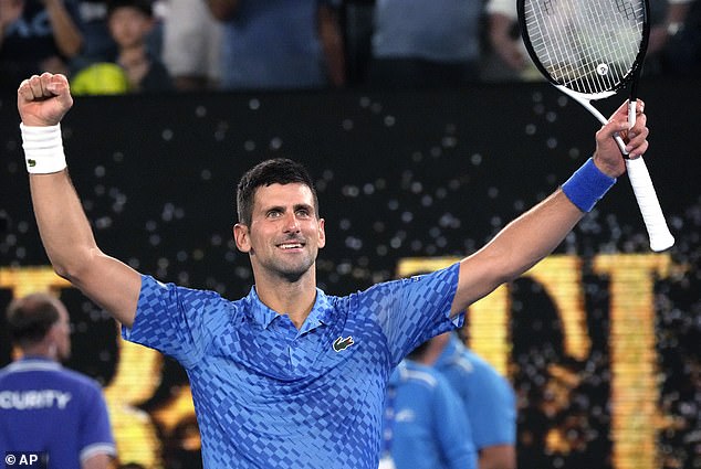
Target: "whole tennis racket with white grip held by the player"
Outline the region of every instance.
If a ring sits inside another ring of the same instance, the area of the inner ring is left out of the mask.
[[[649,35],[646,0],[517,0],[519,23],[526,50],[541,73],[601,124],[606,118],[590,102],[630,85],[628,125],[636,122],[637,84]],[[624,156],[625,143],[616,141]],[[650,173],[642,158],[626,158],[650,248],[671,247]]]

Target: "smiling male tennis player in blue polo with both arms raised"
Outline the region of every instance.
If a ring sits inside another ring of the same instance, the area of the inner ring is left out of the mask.
[[[205,467],[377,468],[385,385],[402,356],[462,323],[465,308],[551,253],[622,174],[614,139],[648,148],[642,103],[627,131],[626,105],[596,135],[596,152],[564,185],[477,253],[436,273],[347,297],[316,288],[324,220],[308,174],[265,161],[238,188],[237,247],[255,285],[229,301],[164,285],[97,247],[66,171],[60,121],[66,78],[22,82],[18,108],[34,213],[53,264],[123,324],[126,339],[187,370]]]

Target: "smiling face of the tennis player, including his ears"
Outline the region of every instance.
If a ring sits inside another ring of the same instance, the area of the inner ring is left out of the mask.
[[[234,226],[237,247],[249,253],[253,275],[296,281],[313,267],[326,244],[324,220],[303,183],[270,184],[255,190],[250,225]]]

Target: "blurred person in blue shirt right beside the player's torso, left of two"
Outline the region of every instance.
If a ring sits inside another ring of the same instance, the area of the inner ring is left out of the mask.
[[[420,364],[428,342],[387,383],[380,469],[477,469],[470,423],[446,379]]]

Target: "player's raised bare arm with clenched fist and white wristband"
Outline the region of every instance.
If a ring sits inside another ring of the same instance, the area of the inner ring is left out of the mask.
[[[39,234],[56,274],[117,321],[130,327],[140,276],[100,251],[65,169],[59,122],[72,105],[69,82],[63,75],[34,75],[22,82],[18,89]]]

